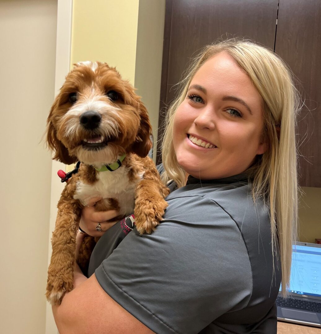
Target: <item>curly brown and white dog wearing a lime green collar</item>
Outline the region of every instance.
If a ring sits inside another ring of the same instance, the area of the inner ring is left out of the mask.
[[[140,234],[151,233],[162,219],[169,190],[147,156],[150,134],[145,106],[114,67],[90,61],[74,65],[47,120],[53,159],[79,166],[58,202],[46,291],[51,304],[60,304],[73,288],[76,233],[81,210],[92,197],[102,198],[96,210],[119,211],[113,221],[134,212]]]

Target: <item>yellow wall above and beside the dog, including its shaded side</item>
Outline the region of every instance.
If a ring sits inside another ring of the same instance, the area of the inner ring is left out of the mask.
[[[165,0],[93,0],[90,6],[86,0],[74,0],[73,4],[71,68],[84,60],[116,66],[147,107],[155,148],[164,19]]]

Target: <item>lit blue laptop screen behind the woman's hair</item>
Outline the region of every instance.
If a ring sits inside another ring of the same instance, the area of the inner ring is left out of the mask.
[[[321,245],[293,245],[289,292],[321,297]]]

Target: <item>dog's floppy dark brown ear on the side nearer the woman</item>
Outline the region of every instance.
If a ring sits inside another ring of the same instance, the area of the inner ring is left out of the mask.
[[[150,140],[152,127],[149,121],[147,109],[140,100],[138,101],[138,108],[140,114],[140,127],[135,142],[132,146],[132,151],[141,158],[145,158],[153,145],[152,141]]]

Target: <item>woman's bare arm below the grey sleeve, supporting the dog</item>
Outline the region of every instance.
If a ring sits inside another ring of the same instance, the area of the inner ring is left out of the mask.
[[[83,234],[76,238],[76,254]],[[95,275],[87,279],[78,265],[74,270],[74,290],[67,293],[61,305],[53,306],[60,334],[82,333],[153,333],[116,303],[100,287]]]

